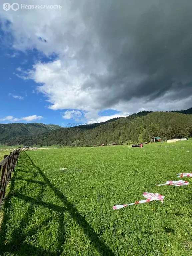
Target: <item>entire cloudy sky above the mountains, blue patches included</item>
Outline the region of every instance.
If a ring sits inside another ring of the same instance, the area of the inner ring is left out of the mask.
[[[0,122],[192,107],[191,0],[17,3],[0,7]]]

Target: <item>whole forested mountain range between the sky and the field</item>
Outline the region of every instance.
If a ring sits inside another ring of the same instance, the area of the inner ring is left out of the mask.
[[[41,123],[0,124],[0,143],[6,145],[59,144],[76,147],[112,142],[123,144],[148,141],[153,134],[167,138],[192,136],[192,108],[167,112],[141,111],[128,117],[65,129]]]

